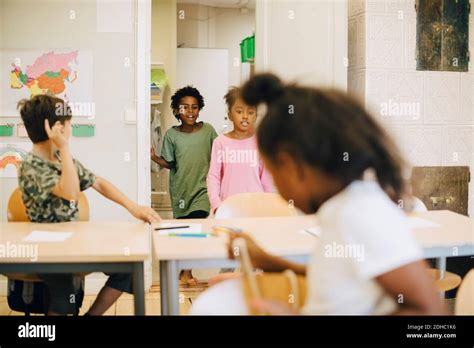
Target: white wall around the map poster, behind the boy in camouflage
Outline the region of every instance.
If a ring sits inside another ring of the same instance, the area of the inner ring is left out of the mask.
[[[134,107],[134,32],[96,32],[96,1],[2,0],[2,49],[78,49],[93,54],[93,100],[96,135],[72,138],[73,156],[97,175],[109,179],[132,199],[137,198],[136,125],[124,124],[124,112]],[[75,19],[69,17],[75,11]],[[25,15],[27,14],[27,15]],[[130,2],[130,16],[134,6]],[[34,30],[33,30],[34,28]],[[124,64],[130,58],[130,66]],[[2,119],[18,123],[20,118]],[[77,119],[76,119],[77,121]],[[74,122],[74,118],[73,118]],[[119,140],[120,139],[120,140]],[[2,141],[25,142],[9,137]],[[125,153],[130,161],[124,160]],[[104,163],[107,166],[104,166]],[[1,179],[0,220],[6,220],[6,202],[16,179]],[[92,220],[131,220],[122,207],[88,190]]]

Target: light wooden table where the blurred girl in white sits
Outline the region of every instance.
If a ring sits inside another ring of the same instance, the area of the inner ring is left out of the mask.
[[[446,258],[474,255],[473,219],[450,211],[410,214],[438,224],[413,229],[426,258],[437,258],[444,271]],[[313,215],[269,218],[164,220],[164,223],[201,223],[203,232],[212,226],[238,227],[248,232],[268,252],[289,260],[307,263],[318,238],[303,229],[317,226]],[[158,227],[156,224],[154,227]],[[209,238],[167,237],[153,232],[153,257],[160,264],[162,315],[179,314],[179,271],[197,268],[238,267],[227,255],[225,235]]]

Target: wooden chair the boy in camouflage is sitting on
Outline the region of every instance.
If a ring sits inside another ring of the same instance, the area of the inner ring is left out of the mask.
[[[89,203],[86,195],[81,192],[78,199],[78,221],[89,221]],[[26,207],[21,198],[20,188],[17,187],[13,190],[8,200],[7,206],[7,219],[8,222],[29,222],[28,214],[26,213]],[[35,275],[30,273],[4,273],[4,276],[9,281],[20,280],[25,282],[41,282],[41,280]],[[80,276],[85,276],[81,274]],[[25,313],[29,315],[29,313]]]

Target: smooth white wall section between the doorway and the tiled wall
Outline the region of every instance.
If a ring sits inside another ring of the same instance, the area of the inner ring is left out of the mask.
[[[346,89],[345,0],[259,0],[256,6],[257,72]]]

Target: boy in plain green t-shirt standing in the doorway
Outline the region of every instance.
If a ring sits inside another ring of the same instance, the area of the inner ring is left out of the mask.
[[[206,178],[217,133],[209,123],[197,122],[203,107],[204,98],[196,88],[179,89],[171,97],[171,108],[181,124],[165,133],[161,157],[151,149],[151,159],[170,169],[171,205],[177,219],[206,218],[211,208]],[[190,271],[183,272],[183,278],[189,284],[196,282]]]

